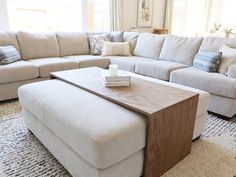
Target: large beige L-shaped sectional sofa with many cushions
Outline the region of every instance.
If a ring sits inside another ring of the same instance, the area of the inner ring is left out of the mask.
[[[123,41],[130,41],[133,56],[89,55],[88,34],[83,32],[0,32],[0,46],[14,45],[23,59],[0,66],[0,101],[16,98],[19,86],[46,80],[50,72],[107,68],[113,63],[136,74],[207,91],[211,94],[209,111],[227,117],[236,114],[236,66],[230,67],[228,76],[192,67],[199,49],[219,51],[225,44],[236,47],[236,39],[125,32]]]

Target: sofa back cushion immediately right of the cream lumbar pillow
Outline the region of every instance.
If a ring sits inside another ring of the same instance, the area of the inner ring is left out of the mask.
[[[134,49],[134,55],[159,59],[164,40],[164,35],[141,33]]]

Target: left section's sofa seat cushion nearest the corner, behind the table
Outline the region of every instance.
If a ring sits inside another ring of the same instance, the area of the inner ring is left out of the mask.
[[[101,56],[95,55],[75,55],[64,57],[79,64],[79,68],[87,68],[97,66],[100,68],[108,68],[110,60]]]

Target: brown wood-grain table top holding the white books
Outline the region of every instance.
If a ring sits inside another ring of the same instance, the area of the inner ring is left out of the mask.
[[[90,67],[54,72],[51,76],[147,116],[198,95],[135,77],[131,77],[129,87],[107,88],[102,83],[102,70]]]

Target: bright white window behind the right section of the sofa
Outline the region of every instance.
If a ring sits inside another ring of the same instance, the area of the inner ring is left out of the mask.
[[[171,32],[186,36],[209,35],[215,24],[231,29],[236,26],[235,6],[236,0],[173,0]]]

